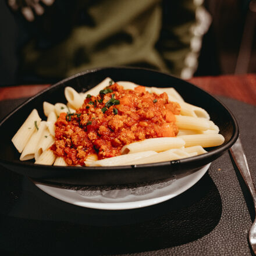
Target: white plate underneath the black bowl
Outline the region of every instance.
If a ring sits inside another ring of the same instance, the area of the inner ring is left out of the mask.
[[[141,184],[137,187],[105,186],[91,189],[91,187],[70,186],[67,189],[33,182],[35,186],[52,197],[80,207],[108,210],[134,209],[158,204],[183,193],[204,176],[210,164],[179,179],[172,177],[159,183]]]

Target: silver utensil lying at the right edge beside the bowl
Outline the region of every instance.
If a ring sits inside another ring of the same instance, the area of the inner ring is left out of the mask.
[[[244,182],[246,183],[251,193],[251,196],[253,197],[253,203],[256,212],[256,189],[253,183],[253,179],[251,177],[251,172],[247,163],[246,155],[244,154],[240,137],[238,137],[236,143],[234,143],[234,145],[230,148],[230,153],[244,179]],[[248,239],[254,254],[256,254],[256,219],[254,220],[253,225],[250,228],[250,231],[248,233]]]

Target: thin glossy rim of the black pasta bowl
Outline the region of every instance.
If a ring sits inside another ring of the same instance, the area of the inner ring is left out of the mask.
[[[77,170],[77,172],[84,171],[84,170],[87,171],[87,170],[109,170],[109,169],[113,170],[113,169],[154,168],[154,167],[160,167],[160,166],[173,165],[173,164],[177,164],[177,163],[184,165],[186,163],[193,163],[193,162],[201,161],[203,159],[211,158],[214,155],[221,155],[224,151],[226,151],[230,147],[232,147],[232,145],[236,142],[237,138],[239,137],[239,126],[238,126],[237,120],[234,117],[233,113],[229,110],[229,108],[227,108],[227,106],[225,104],[223,104],[221,101],[219,101],[219,99],[215,98],[212,94],[210,94],[207,91],[203,90],[202,88],[196,86],[195,84],[192,84],[189,81],[180,79],[179,77],[173,76],[172,74],[168,74],[166,72],[161,72],[161,71],[158,71],[158,70],[148,69],[148,68],[144,68],[144,67],[130,67],[130,66],[95,67],[93,69],[87,69],[84,72],[79,72],[79,73],[73,74],[72,76],[69,76],[69,77],[67,77],[67,78],[65,78],[61,81],[58,81],[57,83],[52,84],[51,86],[45,88],[44,90],[40,91],[39,93],[35,94],[34,96],[28,98],[22,104],[20,104],[15,109],[13,109],[13,111],[8,113],[1,120],[0,127],[3,125],[3,123],[7,119],[9,119],[10,116],[12,116],[14,113],[19,111],[20,108],[22,108],[24,105],[28,104],[34,98],[37,98],[41,94],[45,93],[46,91],[53,90],[53,88],[58,87],[61,84],[65,85],[66,81],[72,80],[76,77],[84,76],[85,74],[88,74],[88,73],[95,73],[95,72],[98,72],[100,70],[108,70],[108,69],[127,69],[127,70],[134,70],[135,69],[135,70],[144,70],[144,71],[147,71],[147,72],[158,73],[158,74],[161,74],[161,75],[173,77],[177,80],[181,80],[183,82],[186,82],[186,83],[190,84],[190,86],[193,86],[193,87],[197,88],[197,90],[203,91],[204,93],[210,95],[216,102],[221,104],[223,106],[223,108],[225,108],[226,111],[231,116],[231,119],[232,119],[232,122],[233,122],[233,127],[234,127],[232,137],[230,138],[229,141],[227,141],[226,144],[220,145],[219,148],[214,148],[210,152],[207,152],[207,153],[201,154],[201,155],[197,155],[197,156],[194,156],[194,157],[177,159],[175,161],[165,161],[165,162],[157,162],[157,163],[144,163],[144,164],[139,164],[139,165],[118,165],[118,166],[53,166],[53,165],[50,166],[50,165],[38,165],[36,163],[32,163],[32,162],[28,162],[28,161],[17,161],[17,160],[8,161],[8,160],[0,158],[0,163],[6,164],[6,165],[23,166],[23,167],[26,167],[26,168],[36,168],[36,167],[41,167],[42,168],[42,166],[43,166],[44,168],[55,169],[55,170],[58,170],[58,169],[59,170]]]

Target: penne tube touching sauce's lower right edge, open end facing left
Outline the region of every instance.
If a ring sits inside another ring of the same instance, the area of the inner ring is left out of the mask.
[[[147,140],[125,145],[121,150],[121,154],[132,154],[148,150],[161,152],[171,148],[181,148],[184,145],[185,142],[176,137],[148,138]]]

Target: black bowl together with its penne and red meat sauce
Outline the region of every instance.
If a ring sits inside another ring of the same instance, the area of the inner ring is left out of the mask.
[[[184,174],[216,159],[238,134],[232,114],[211,95],[146,69],[79,74],[38,94],[7,120],[25,107],[29,121],[20,120],[11,138],[20,160],[35,158],[35,173],[33,161],[19,165],[27,168],[23,174],[53,182],[122,184]]]

